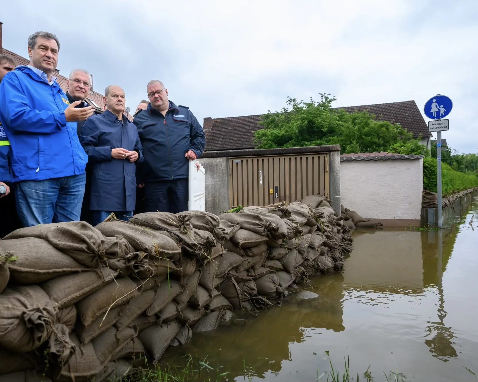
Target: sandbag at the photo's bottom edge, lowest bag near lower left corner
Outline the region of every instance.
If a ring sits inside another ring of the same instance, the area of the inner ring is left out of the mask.
[[[76,347],[76,352],[61,371],[56,381],[91,381],[92,377],[101,371],[101,363],[98,360],[93,344],[88,342],[80,344],[79,339],[73,332],[70,340]]]

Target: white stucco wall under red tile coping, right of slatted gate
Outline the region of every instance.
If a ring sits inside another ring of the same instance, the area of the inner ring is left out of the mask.
[[[340,198],[369,219],[420,219],[423,159],[343,161]]]

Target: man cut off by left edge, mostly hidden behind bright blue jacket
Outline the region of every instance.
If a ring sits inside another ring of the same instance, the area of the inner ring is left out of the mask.
[[[3,77],[15,69],[15,62],[6,55],[0,55],[0,83]],[[18,227],[15,197],[11,190],[10,141],[0,122],[0,238]],[[2,193],[3,187],[5,192]]]

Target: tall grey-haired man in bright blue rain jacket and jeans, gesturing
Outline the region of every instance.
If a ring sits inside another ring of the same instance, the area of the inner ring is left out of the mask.
[[[17,67],[0,84],[0,121],[11,144],[11,175],[18,215],[25,227],[79,220],[87,154],[76,122],[93,108],[75,109],[53,71],[60,44],[48,32],[28,38],[30,65]]]

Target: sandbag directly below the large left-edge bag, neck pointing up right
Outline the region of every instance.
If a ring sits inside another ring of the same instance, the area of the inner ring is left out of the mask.
[[[103,285],[110,283],[117,274],[117,271],[101,268],[99,274],[95,271],[66,274],[44,281],[40,284],[40,287],[58,308],[64,308],[75,304]]]

